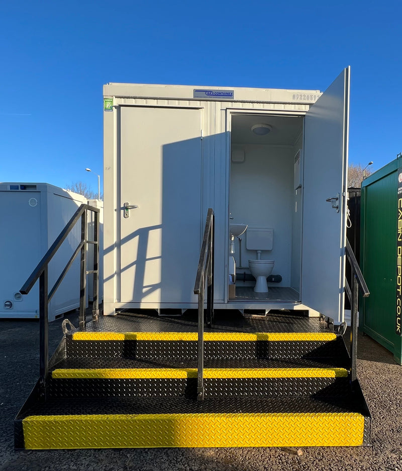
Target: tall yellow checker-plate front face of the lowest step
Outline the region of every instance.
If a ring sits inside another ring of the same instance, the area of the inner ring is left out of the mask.
[[[31,416],[26,449],[238,446],[357,446],[356,413]]]

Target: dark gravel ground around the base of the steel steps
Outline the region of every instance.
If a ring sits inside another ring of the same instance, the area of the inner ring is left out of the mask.
[[[75,312],[68,318],[78,324]],[[61,322],[49,326],[50,351]],[[0,320],[0,471],[402,470],[402,369],[367,336],[359,338],[358,376],[373,417],[371,447],[14,451],[13,420],[38,377],[38,333],[38,321]]]

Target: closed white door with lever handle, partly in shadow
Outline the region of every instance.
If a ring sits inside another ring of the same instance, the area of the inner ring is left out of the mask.
[[[121,108],[121,302],[196,302],[200,123],[197,109]]]

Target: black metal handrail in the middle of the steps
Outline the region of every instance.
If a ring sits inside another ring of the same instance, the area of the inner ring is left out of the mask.
[[[214,320],[215,215],[208,209],[203,245],[199,254],[194,294],[198,295],[197,399],[204,400],[204,293],[207,282],[207,325]],[[207,276],[206,276],[207,275]]]

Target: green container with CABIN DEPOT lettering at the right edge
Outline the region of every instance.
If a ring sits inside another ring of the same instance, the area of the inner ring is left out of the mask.
[[[360,329],[401,363],[402,159],[362,182],[360,266],[370,296],[360,304]]]

